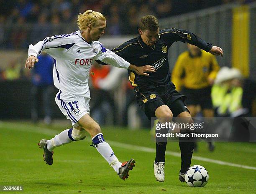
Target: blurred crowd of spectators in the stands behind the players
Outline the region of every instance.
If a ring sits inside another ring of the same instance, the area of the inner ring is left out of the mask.
[[[92,9],[107,19],[106,35],[134,35],[143,15],[159,19],[230,2],[253,0],[0,0],[0,48],[27,48],[28,42],[77,30],[78,13]],[[66,25],[68,24],[68,25]],[[33,30],[31,30],[33,27]]]

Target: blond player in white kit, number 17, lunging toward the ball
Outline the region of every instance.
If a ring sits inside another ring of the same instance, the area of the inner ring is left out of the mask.
[[[77,25],[79,30],[76,32],[46,37],[28,48],[25,68],[31,69],[38,62],[37,57],[42,51],[54,58],[54,85],[59,89],[55,101],[73,126],[52,139],[41,139],[38,145],[44,149],[46,163],[52,165],[54,148],[84,139],[87,131],[92,137],[92,146],[107,160],[118,176],[125,180],[129,170],[135,166],[135,161],[130,159],[128,162],[119,162],[110,145],[105,142],[99,124],[90,117],[90,66],[95,60],[100,60],[144,76],[155,70],[150,65],[136,67],[130,64],[98,41],[106,28],[106,19],[100,12],[87,10],[79,14]]]

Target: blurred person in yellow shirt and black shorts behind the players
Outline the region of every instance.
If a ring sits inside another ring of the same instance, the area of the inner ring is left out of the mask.
[[[214,117],[211,87],[220,67],[215,56],[195,45],[187,44],[187,47],[174,65],[172,82],[176,90],[187,96],[185,102],[192,117],[198,113],[198,107],[204,117]],[[211,142],[209,149],[214,150]]]

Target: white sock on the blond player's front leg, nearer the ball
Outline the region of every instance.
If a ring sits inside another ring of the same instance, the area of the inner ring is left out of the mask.
[[[97,144],[96,149],[100,153],[100,155],[102,155],[102,157],[108,161],[110,167],[113,167],[115,172],[118,173],[118,169],[119,167],[121,167],[122,163],[119,162],[110,145],[107,142],[102,142],[100,144]]]

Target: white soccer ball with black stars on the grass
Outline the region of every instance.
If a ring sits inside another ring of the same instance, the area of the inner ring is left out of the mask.
[[[185,181],[189,187],[204,187],[209,179],[209,174],[205,167],[194,165],[189,167],[185,174]]]

